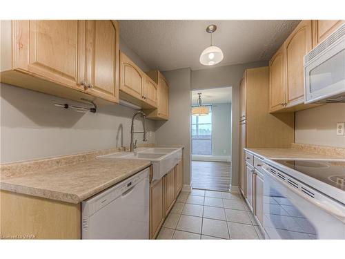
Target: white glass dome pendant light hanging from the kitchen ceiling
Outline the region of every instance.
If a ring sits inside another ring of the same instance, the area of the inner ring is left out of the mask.
[[[212,33],[215,32],[215,30],[217,30],[217,26],[214,24],[211,24],[206,28],[206,32],[210,33],[211,36],[211,45],[204,49],[199,59],[200,63],[205,66],[213,66],[218,64],[224,58],[221,49],[212,45]]]

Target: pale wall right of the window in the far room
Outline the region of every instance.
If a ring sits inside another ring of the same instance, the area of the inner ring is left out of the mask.
[[[212,155],[231,155],[231,104],[212,105]]]

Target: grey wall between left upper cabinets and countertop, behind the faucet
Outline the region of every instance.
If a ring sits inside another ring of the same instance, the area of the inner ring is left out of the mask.
[[[135,110],[120,105],[99,106],[97,113],[77,113],[53,103],[67,99],[1,84],[1,164],[70,155],[130,144],[130,119]],[[141,130],[137,117],[135,129]],[[155,122],[147,143],[155,143]],[[138,144],[142,135],[135,135]]]

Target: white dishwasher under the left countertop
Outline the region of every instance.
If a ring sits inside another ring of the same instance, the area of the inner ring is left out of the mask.
[[[140,171],[81,202],[81,239],[148,239],[149,173]]]

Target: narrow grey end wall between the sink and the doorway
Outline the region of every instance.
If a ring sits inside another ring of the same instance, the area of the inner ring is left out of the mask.
[[[190,184],[190,69],[164,72],[169,82],[169,120],[157,121],[155,143],[184,145],[184,184]]]

